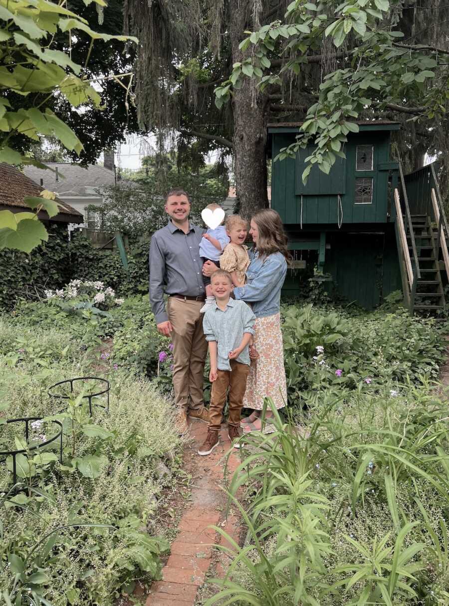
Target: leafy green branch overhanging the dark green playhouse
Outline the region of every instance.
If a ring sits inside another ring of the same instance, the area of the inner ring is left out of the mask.
[[[313,144],[302,174],[304,182],[313,164],[328,174],[336,158],[345,158],[348,135],[359,131],[354,121],[365,118],[367,110],[400,111],[407,99],[405,112],[414,121],[441,119],[449,96],[447,52],[441,55],[433,46],[401,43],[404,33],[396,29],[399,10],[399,2],[388,0],[291,2],[284,23],[274,21],[257,32],[246,32],[250,35],[240,48],[251,48],[251,54],[234,63],[230,78],[216,88],[217,107],[229,101],[245,76],[256,79],[261,90],[281,84],[287,71],[299,76],[305,71],[307,56],[329,42],[345,49],[339,53],[345,61],[325,76],[318,102],[308,108],[296,143],[276,158],[294,156],[299,148]],[[285,60],[279,73],[271,68],[273,55]],[[270,74],[264,75],[267,70]]]

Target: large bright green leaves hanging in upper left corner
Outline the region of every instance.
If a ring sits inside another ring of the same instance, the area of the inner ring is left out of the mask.
[[[94,1],[99,6],[105,5],[103,0]],[[90,4],[90,0],[86,4]],[[78,137],[49,107],[44,107],[45,101],[61,95],[73,107],[89,104],[99,107],[101,98],[82,73],[82,65],[73,62],[70,53],[52,48],[55,34],[58,30],[68,32],[68,47],[73,30],[90,36],[85,65],[96,39],[127,41],[129,38],[94,32],[85,19],[65,8],[64,2],[55,4],[38,0],[30,8],[21,0],[1,0],[0,19],[0,92],[24,97],[33,95],[35,99],[32,107],[17,108],[4,95],[0,96],[0,162],[36,164],[44,168],[12,147],[15,136],[32,141],[39,141],[40,136],[52,137],[79,154],[82,144]],[[136,42],[135,38],[133,40]],[[30,201],[29,205],[35,208],[36,200]],[[38,211],[42,207],[50,217],[57,212],[55,202],[45,204],[44,196],[40,203],[38,201],[36,213],[13,214],[8,210],[0,213],[0,250],[12,248],[29,253],[42,241],[48,241],[47,230],[38,221]]]

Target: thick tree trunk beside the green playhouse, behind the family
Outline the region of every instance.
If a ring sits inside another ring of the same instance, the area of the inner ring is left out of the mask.
[[[252,2],[230,0],[229,18],[232,62],[241,62],[248,55],[239,50],[249,22]],[[268,207],[267,196],[267,124],[269,98],[259,92],[255,82],[245,77],[242,87],[234,89],[234,175],[236,196],[242,216],[250,218],[254,211]]]

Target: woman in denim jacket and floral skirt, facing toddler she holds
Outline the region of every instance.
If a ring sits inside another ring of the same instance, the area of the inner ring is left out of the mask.
[[[253,308],[254,347],[259,358],[251,362],[250,375],[244,397],[244,407],[251,408],[250,416],[242,419],[245,433],[261,430],[259,417],[264,399],[273,399],[276,408],[287,404],[287,383],[282,346],[280,299],[281,288],[287,273],[287,236],[281,217],[275,210],[259,210],[251,219],[250,235],[254,249],[250,251],[247,284],[243,281],[234,288],[234,297],[243,299]],[[267,410],[266,418],[273,416]],[[265,425],[265,432],[273,431]]]

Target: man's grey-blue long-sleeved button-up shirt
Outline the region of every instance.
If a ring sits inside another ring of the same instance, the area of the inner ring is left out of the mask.
[[[171,221],[156,231],[150,244],[150,303],[156,324],[167,321],[167,295],[204,295],[199,243],[204,229],[191,223],[184,233]]]

